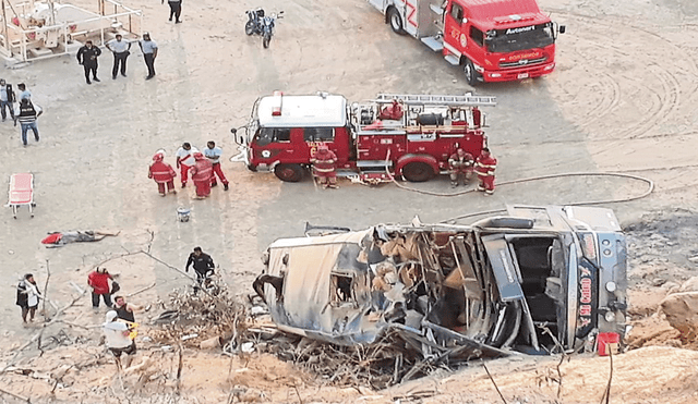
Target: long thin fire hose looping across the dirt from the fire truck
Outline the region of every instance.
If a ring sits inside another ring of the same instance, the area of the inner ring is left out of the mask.
[[[431,192],[431,191],[417,189],[417,188],[413,188],[413,187],[410,187],[410,186],[407,186],[407,185],[402,185],[395,179],[395,176],[388,170],[387,159],[389,159],[389,157],[390,157],[390,151],[388,150],[388,154],[386,156],[385,171],[386,171],[388,177],[390,179],[390,181],[395,185],[397,185],[397,187],[400,188],[400,189],[416,192],[418,194],[423,194],[423,195],[440,196],[440,197],[460,196],[460,195],[470,194],[470,193],[476,192],[476,189],[467,189],[467,191],[460,191],[460,192],[457,192],[457,193],[446,194],[446,193],[437,193],[437,192]],[[650,180],[648,177],[645,177],[645,176],[625,174],[625,173],[618,173],[618,172],[566,172],[566,173],[559,173],[559,174],[538,175],[538,176],[529,176],[529,177],[519,179],[519,180],[504,181],[504,182],[497,183],[497,186],[521,184],[521,183],[526,183],[526,182],[543,181],[543,180],[550,180],[550,179],[568,177],[568,176],[615,176],[615,177],[621,177],[621,179],[630,179],[630,180],[635,180],[635,181],[640,181],[640,182],[643,182],[643,183],[647,184],[647,189],[643,193],[641,193],[640,195],[628,196],[628,197],[625,197],[625,198],[616,198],[616,199],[587,200],[587,201],[565,204],[565,205],[571,205],[571,206],[627,203],[627,201],[645,198],[645,197],[647,197],[648,195],[650,195],[654,191],[654,182],[652,180]],[[506,209],[496,209],[496,210],[488,210],[488,211],[481,211],[481,212],[476,212],[476,213],[461,215],[461,216],[457,216],[455,218],[449,218],[449,219],[446,219],[446,220],[442,220],[441,222],[442,223],[454,222],[456,220],[465,219],[465,218],[469,218],[469,217],[473,217],[473,216],[492,215],[492,213],[500,213],[500,212],[506,212]]]

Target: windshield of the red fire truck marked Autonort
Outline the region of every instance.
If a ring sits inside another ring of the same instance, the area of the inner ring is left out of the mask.
[[[493,29],[488,32],[485,45],[490,52],[513,52],[543,48],[555,41],[551,23],[518,28]]]

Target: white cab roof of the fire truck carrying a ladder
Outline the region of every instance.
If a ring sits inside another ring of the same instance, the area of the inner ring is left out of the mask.
[[[257,117],[263,127],[341,127],[347,124],[347,99],[342,96],[281,96],[281,113],[274,115],[278,97],[260,100]]]

